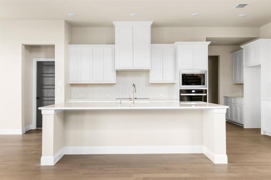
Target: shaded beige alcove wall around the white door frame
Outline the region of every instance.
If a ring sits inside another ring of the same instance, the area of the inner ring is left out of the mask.
[[[54,46],[25,45],[24,60],[24,119],[25,126],[32,125],[32,68],[33,58],[54,58]]]

